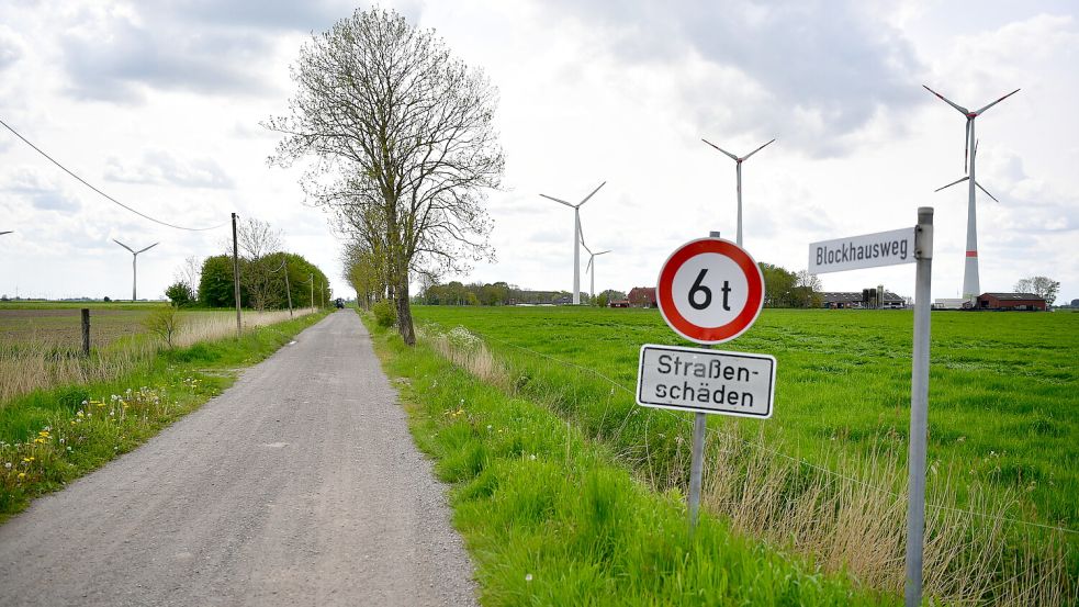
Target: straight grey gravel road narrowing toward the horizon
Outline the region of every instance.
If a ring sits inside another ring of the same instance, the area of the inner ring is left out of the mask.
[[[0,526],[0,605],[474,605],[449,517],[346,310]]]

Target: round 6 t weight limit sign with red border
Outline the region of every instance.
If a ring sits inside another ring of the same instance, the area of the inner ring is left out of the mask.
[[[761,314],[764,274],[734,243],[700,238],[663,263],[655,299],[675,333],[698,344],[721,344],[745,333]]]

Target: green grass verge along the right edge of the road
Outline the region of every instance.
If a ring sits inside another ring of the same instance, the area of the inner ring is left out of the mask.
[[[366,319],[417,445],[452,483],[485,605],[875,605],[856,587],[650,491],[550,408]]]

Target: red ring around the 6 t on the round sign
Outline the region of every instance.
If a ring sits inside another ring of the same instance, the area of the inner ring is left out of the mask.
[[[703,254],[718,254],[733,261],[745,276],[749,286],[745,306],[733,321],[716,327],[704,327],[692,323],[678,312],[674,303],[674,277],[682,266]],[[675,333],[698,344],[721,344],[745,333],[764,307],[764,274],[761,267],[745,249],[721,238],[700,238],[690,240],[676,249],[660,270],[660,281],[655,290],[660,313]]]

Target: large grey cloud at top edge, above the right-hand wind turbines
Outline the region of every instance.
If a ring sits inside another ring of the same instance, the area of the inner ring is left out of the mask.
[[[864,2],[558,4],[620,30],[614,52],[625,61],[696,56],[726,70],[722,79],[687,82],[679,92],[690,120],[728,135],[779,134],[814,156],[844,155],[841,138],[878,112],[929,100],[918,86],[924,68],[912,45]]]

